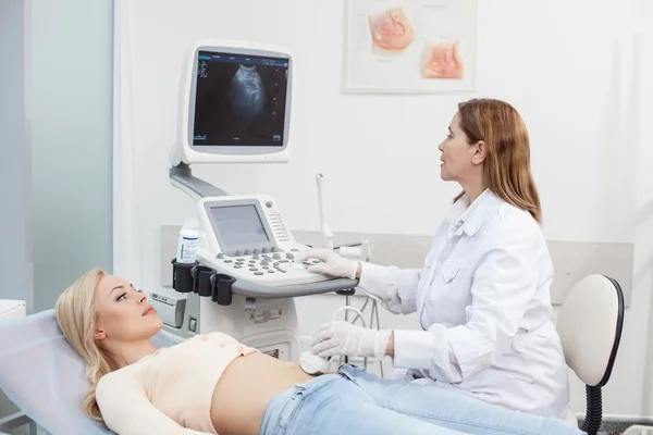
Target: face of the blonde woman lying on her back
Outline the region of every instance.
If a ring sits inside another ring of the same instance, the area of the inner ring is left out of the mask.
[[[126,281],[107,275],[97,291],[96,339],[113,343],[147,340],[163,326],[147,296]]]

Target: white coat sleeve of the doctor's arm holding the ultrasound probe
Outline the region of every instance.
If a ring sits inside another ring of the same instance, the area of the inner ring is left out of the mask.
[[[504,216],[501,226],[492,229],[496,243],[473,273],[467,323],[394,331],[386,353],[394,357],[396,368],[429,369],[440,381],[458,383],[509,351],[541,274],[550,273],[541,264],[547,253],[539,228],[517,217]]]

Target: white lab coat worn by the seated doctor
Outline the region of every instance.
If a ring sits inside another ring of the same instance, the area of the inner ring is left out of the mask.
[[[360,287],[423,331],[395,331],[394,377],[563,417],[567,366],[551,322],[553,266],[532,216],[489,190],[464,196],[420,270],[361,265]]]

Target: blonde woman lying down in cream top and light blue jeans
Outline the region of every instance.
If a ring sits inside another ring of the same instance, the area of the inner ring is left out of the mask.
[[[120,435],[581,433],[354,365],[308,375],[221,333],[157,350],[150,338],[163,323],[146,295],[101,270],[67,288],[56,313],[86,363],[85,413]]]

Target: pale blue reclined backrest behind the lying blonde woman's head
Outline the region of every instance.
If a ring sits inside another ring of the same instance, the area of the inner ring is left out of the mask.
[[[161,332],[157,347],[174,343]],[[0,389],[23,412],[53,434],[112,434],[82,412],[88,382],[84,362],[48,310],[0,321]]]

